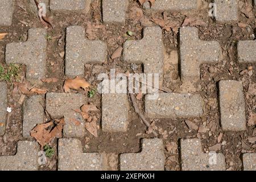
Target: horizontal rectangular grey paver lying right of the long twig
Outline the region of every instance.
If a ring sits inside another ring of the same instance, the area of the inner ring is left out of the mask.
[[[156,100],[145,98],[145,113],[148,118],[200,117],[204,101],[199,94],[159,93]]]

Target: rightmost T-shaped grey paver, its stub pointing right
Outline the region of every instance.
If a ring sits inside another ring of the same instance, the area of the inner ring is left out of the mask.
[[[199,80],[200,65],[204,63],[218,63],[220,55],[220,44],[216,41],[200,40],[196,27],[180,28],[180,64],[182,80]]]

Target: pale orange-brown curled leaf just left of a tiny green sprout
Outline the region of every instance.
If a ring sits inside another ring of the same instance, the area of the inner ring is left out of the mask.
[[[67,79],[64,83],[64,92],[71,92],[71,89],[79,90],[80,88],[86,90],[90,84],[80,77],[74,79]]]

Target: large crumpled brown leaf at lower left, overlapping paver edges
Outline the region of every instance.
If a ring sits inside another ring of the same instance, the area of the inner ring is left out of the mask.
[[[34,137],[40,146],[45,146],[51,142],[53,138],[62,137],[64,118],[56,119],[55,121],[55,123],[57,123],[56,126],[52,121],[48,123],[42,123],[36,125],[36,127],[34,127],[34,129],[30,132],[31,137]]]

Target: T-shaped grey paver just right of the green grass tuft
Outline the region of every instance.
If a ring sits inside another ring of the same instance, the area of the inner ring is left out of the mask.
[[[6,45],[6,63],[25,64],[27,80],[41,80],[46,75],[46,34],[43,28],[31,28],[27,42]]]

